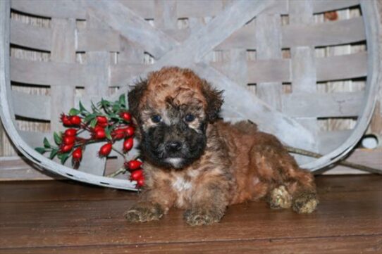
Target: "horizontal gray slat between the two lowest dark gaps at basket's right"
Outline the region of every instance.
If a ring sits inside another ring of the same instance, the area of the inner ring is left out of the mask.
[[[293,118],[355,117],[364,92],[283,94],[283,113]]]

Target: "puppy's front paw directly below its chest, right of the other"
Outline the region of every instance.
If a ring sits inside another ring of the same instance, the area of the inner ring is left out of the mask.
[[[219,222],[223,215],[223,212],[219,210],[192,209],[186,210],[183,217],[187,224],[191,226],[201,226]]]

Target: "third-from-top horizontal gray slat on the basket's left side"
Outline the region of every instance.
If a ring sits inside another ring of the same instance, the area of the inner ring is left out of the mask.
[[[11,58],[11,80],[27,84],[81,87],[85,66],[79,63],[37,62]]]

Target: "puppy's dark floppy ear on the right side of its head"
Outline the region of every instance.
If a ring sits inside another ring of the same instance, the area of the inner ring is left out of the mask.
[[[223,90],[218,91],[211,87],[211,84],[206,80],[203,80],[202,93],[207,100],[207,119],[209,122],[213,122],[218,118],[218,113],[223,104]]]

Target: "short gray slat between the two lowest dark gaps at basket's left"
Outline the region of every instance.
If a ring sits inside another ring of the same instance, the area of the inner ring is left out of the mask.
[[[49,106],[50,96],[27,94],[20,91],[12,91],[13,109],[16,115],[25,118],[50,120]]]

